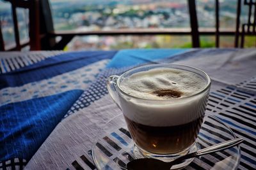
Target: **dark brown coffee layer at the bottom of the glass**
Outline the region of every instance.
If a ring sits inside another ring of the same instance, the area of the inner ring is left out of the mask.
[[[191,146],[203,122],[200,117],[184,125],[151,127],[125,117],[132,139],[143,150],[157,154],[179,153]]]

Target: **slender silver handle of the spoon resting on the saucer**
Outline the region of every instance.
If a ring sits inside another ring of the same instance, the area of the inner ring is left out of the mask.
[[[182,160],[185,160],[185,159],[190,159],[190,158],[193,158],[193,157],[198,157],[198,156],[206,155],[206,154],[213,153],[213,152],[226,150],[228,148],[232,148],[233,146],[238,145],[239,143],[242,143],[243,140],[244,139],[236,138],[236,139],[231,139],[229,141],[225,141],[225,142],[222,142],[222,143],[218,143],[216,145],[212,145],[212,146],[209,146],[209,147],[204,148],[202,150],[198,150],[196,152],[189,153],[188,155],[184,155],[182,157],[179,157],[179,158],[173,160],[172,162],[170,162],[169,164],[172,166],[172,165],[177,164],[178,162],[180,162]]]

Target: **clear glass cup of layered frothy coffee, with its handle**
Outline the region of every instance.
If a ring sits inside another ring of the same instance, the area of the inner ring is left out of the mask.
[[[108,78],[109,94],[135,143],[134,155],[164,161],[196,150],[210,87],[204,71],[176,64],[150,64]]]

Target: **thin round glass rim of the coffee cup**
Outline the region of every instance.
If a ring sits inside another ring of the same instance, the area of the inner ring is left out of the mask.
[[[134,71],[136,69],[140,69],[140,68],[143,68],[143,67],[150,67],[150,66],[178,66],[178,67],[181,66],[181,67],[188,67],[188,68],[191,68],[191,69],[195,69],[195,70],[200,71],[201,73],[203,73],[205,75],[205,78],[207,78],[207,85],[205,85],[204,89],[196,92],[195,94],[193,94],[191,96],[181,97],[181,98],[173,98],[173,99],[161,99],[161,100],[157,100],[157,99],[143,99],[143,98],[140,98],[140,97],[132,96],[130,94],[127,94],[126,92],[124,92],[124,90],[122,90],[120,88],[120,80],[121,80],[122,76],[124,76],[127,73],[131,73],[132,71]],[[144,65],[144,66],[138,66],[138,67],[134,67],[132,69],[129,69],[128,71],[125,71],[125,73],[121,74],[118,77],[118,80],[116,81],[117,89],[119,90],[119,92],[121,92],[125,96],[132,97],[134,99],[138,99],[138,100],[141,100],[141,101],[157,101],[157,102],[159,102],[159,101],[162,101],[162,102],[163,101],[178,101],[178,100],[189,99],[191,97],[198,96],[198,94],[202,94],[203,92],[208,90],[210,86],[211,86],[211,78],[210,78],[210,76],[207,73],[205,73],[204,71],[202,71],[201,69],[198,69],[196,67],[187,66],[187,65],[184,65],[184,64],[147,64],[147,65]]]

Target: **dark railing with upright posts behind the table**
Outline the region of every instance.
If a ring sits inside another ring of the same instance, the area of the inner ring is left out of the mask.
[[[15,11],[17,7],[24,7],[24,8],[31,8],[31,4],[37,4],[38,0],[28,0],[25,4],[22,4],[24,0],[15,1],[15,0],[5,0],[12,3],[12,10]],[[31,3],[29,6],[27,4],[29,2],[33,1],[34,3]],[[19,2],[19,3],[17,3]],[[25,1],[24,1],[25,2]],[[37,2],[37,3],[36,3]],[[44,3],[42,3],[44,2]],[[49,2],[48,1],[42,1],[41,2],[41,10],[46,9],[49,10],[47,17],[51,17],[51,10],[49,8]],[[52,24],[52,18],[44,18],[44,21],[42,22],[42,16],[40,23],[35,22],[33,23],[33,20],[36,20],[36,16],[31,16],[30,22],[33,27],[30,27],[29,31],[29,37],[30,39],[29,45],[31,45],[31,50],[63,50],[63,48],[68,44],[68,42],[71,41],[74,36],[89,36],[89,35],[98,35],[98,36],[119,36],[119,35],[190,35],[192,38],[192,45],[193,47],[200,47],[200,36],[215,36],[215,45],[216,47],[220,46],[220,36],[235,36],[235,47],[243,47],[244,43],[244,36],[245,35],[255,35],[256,34],[256,11],[252,11],[253,6],[256,8],[256,2],[253,2],[252,0],[244,0],[244,5],[249,6],[249,12],[248,12],[248,23],[243,24],[240,28],[240,14],[241,14],[241,4],[242,0],[237,0],[237,17],[236,17],[236,29],[220,29],[220,20],[219,20],[219,1],[215,0],[215,28],[198,28],[198,20],[196,17],[196,4],[195,0],[188,0],[188,9],[189,9],[189,20],[190,20],[190,28],[166,28],[166,29],[117,29],[117,30],[111,30],[111,31],[54,31],[53,24]],[[42,7],[43,5],[43,7]],[[48,5],[48,6],[47,6]],[[36,5],[37,6],[37,5]],[[46,6],[46,8],[45,8]],[[34,6],[35,7],[35,6]],[[36,9],[36,10],[35,10]],[[40,10],[38,6],[34,9],[36,13]],[[44,12],[45,13],[45,12]],[[15,12],[13,12],[13,17],[15,18]],[[30,16],[31,13],[29,13]],[[49,15],[50,14],[50,15]],[[42,11],[41,11],[42,15]],[[254,17],[254,22],[251,21],[251,16]],[[43,16],[45,17],[45,16]],[[38,18],[38,17],[37,17]],[[17,17],[16,20],[17,22]],[[30,25],[31,25],[30,24]],[[44,27],[44,31],[41,31],[42,34],[38,36],[38,31],[33,30],[33,28],[38,28],[40,25],[40,28]],[[15,26],[15,41],[16,46],[12,46],[11,48],[4,49],[3,46],[0,46],[1,50],[20,50],[23,46],[28,45],[28,41],[25,41],[24,43],[20,42],[19,40],[19,29],[17,28],[17,24],[14,24]],[[51,29],[45,29],[51,28]],[[250,29],[252,27],[252,29]],[[0,27],[1,29],[1,27]],[[35,35],[36,34],[36,35]],[[57,36],[61,37],[61,40],[59,42],[55,41],[55,38]],[[242,36],[241,43],[239,45],[239,36]],[[1,39],[0,39],[1,41]],[[2,40],[3,41],[3,40]],[[51,42],[50,42],[51,41]],[[34,42],[34,43],[33,43]],[[35,43],[36,42],[36,43]]]

